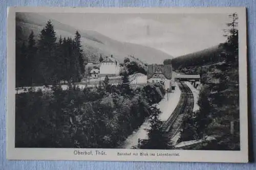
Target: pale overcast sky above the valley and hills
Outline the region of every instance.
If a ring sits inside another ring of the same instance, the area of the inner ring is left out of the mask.
[[[177,57],[225,41],[228,14],[40,14],[79,30],[157,48]]]

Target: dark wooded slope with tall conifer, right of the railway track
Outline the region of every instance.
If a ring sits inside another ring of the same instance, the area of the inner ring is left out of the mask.
[[[230,18],[231,22],[227,23],[230,28],[224,34],[227,40],[220,45],[224,62],[178,69],[201,74],[203,78],[198,100],[200,109],[184,117],[179,141],[216,138],[190,149],[240,150],[238,16],[234,13]]]

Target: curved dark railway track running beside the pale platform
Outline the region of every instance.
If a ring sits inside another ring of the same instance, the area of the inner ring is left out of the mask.
[[[181,123],[177,123],[175,127],[173,125],[180,114],[188,114],[193,111],[194,108],[194,95],[190,88],[184,83],[178,84],[181,90],[180,100],[173,113],[169,116],[166,122],[163,124],[164,131],[168,134],[169,138],[173,138],[179,131]]]

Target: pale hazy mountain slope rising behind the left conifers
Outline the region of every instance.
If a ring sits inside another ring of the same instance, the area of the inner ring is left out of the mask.
[[[33,30],[37,39],[40,31],[45,27],[49,18],[36,13],[16,13],[16,26],[20,27],[25,37],[27,38]],[[51,20],[56,31],[56,36],[74,37],[77,29],[65,25],[57,20]],[[146,47],[143,45],[120,42],[95,31],[78,30],[81,34],[82,48],[86,55],[93,61],[98,61],[99,54],[109,56],[113,54],[119,61],[123,61],[125,57],[130,55],[139,58],[141,61],[148,64],[163,63],[164,59],[171,59],[172,56],[156,50],[155,48]]]

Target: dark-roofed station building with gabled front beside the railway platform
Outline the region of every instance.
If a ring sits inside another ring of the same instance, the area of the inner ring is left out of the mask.
[[[164,89],[173,89],[172,65],[148,65],[147,81],[149,83],[161,83],[164,85]]]

